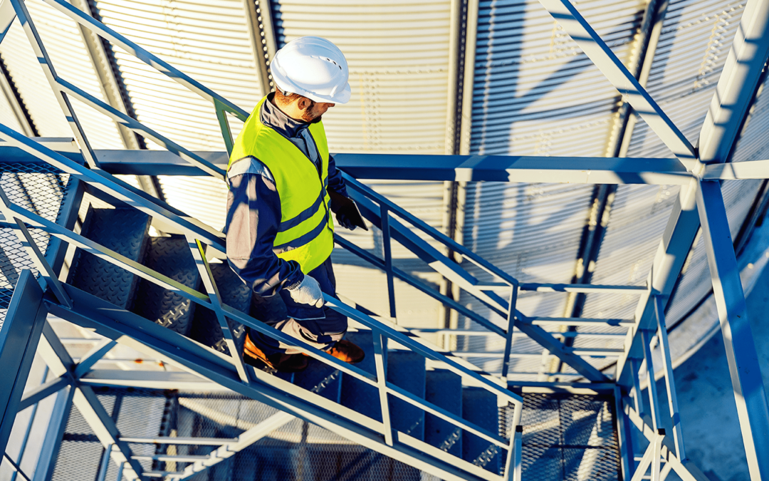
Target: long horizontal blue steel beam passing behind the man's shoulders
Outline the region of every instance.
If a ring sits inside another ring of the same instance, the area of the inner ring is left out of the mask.
[[[112,174],[206,175],[171,152],[96,152],[102,169]],[[218,169],[227,167],[226,152],[194,154]],[[691,179],[678,159],[344,153],[334,154],[334,159],[356,179],[657,185],[681,185]]]

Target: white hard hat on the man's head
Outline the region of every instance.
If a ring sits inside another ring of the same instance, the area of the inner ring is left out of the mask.
[[[299,37],[278,50],[270,63],[275,85],[315,102],[346,104],[350,100],[347,60],[321,37]]]

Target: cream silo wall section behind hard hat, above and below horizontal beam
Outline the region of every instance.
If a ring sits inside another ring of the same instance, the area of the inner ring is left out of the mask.
[[[301,35],[328,38],[345,53],[352,97],[324,118],[331,152],[443,154],[448,109],[451,2],[448,0],[275,0],[278,48]],[[443,229],[442,182],[368,181],[378,192]],[[341,232],[340,232],[341,231]],[[381,256],[381,232],[338,229]],[[394,247],[394,262],[438,285],[440,276]],[[338,290],[388,315],[384,274],[342,249],[333,255]],[[398,322],[434,327],[438,302],[396,281]]]

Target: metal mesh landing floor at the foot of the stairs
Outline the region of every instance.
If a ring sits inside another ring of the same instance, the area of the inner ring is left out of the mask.
[[[620,479],[611,396],[526,393],[523,398],[524,481]],[[512,407],[503,408],[506,426],[511,426],[512,413]]]

